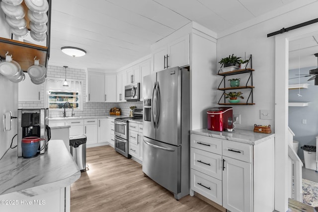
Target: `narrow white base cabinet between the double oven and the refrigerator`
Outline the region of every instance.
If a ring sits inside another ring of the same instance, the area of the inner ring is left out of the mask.
[[[143,125],[135,122],[129,122],[128,132],[128,152],[133,159],[142,163],[143,161]]]

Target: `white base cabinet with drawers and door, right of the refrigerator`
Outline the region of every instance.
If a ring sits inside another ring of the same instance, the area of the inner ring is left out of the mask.
[[[191,134],[194,192],[231,212],[274,210],[274,139],[257,145]]]

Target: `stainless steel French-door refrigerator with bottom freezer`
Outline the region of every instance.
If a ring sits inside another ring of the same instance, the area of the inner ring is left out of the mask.
[[[180,198],[189,194],[190,73],[144,77],[143,172]]]

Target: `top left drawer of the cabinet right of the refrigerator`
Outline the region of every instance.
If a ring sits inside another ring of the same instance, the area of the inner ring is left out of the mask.
[[[222,140],[193,134],[190,136],[190,140],[191,147],[222,154]]]

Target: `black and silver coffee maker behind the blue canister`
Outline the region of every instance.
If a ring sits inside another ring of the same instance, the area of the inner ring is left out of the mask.
[[[22,157],[21,141],[26,137],[41,139],[37,154],[43,154],[48,149],[51,139],[51,129],[48,126],[49,109],[18,109],[17,156]]]

